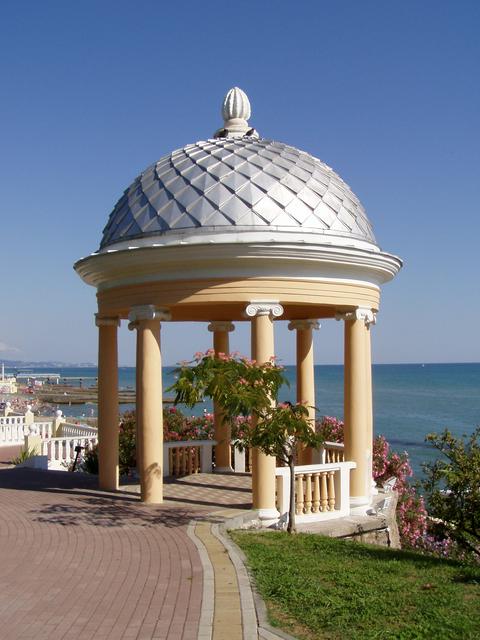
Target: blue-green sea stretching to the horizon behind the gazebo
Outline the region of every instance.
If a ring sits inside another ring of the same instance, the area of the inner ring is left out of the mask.
[[[29,369],[32,373],[44,369]],[[50,372],[50,371],[49,371]],[[74,385],[91,386],[97,382],[96,368],[55,368],[51,373],[66,378]],[[174,382],[175,369],[163,369],[163,388]],[[295,367],[286,367],[289,386],[279,394],[281,401],[296,397]],[[457,436],[470,434],[480,425],[480,363],[459,364],[376,364],[373,365],[374,430],[384,435],[392,449],[407,451],[417,476],[422,464],[437,457],[425,443],[432,432],[450,429]],[[135,388],[135,368],[119,368],[120,388]],[[343,418],[343,366],[315,367],[316,406],[319,416]],[[65,415],[81,418],[96,414],[96,405],[60,405]],[[122,405],[122,410],[132,409]],[[190,414],[211,410],[211,405],[198,405]]]

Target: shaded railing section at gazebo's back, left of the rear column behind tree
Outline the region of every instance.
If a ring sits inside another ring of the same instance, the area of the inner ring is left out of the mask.
[[[163,443],[163,475],[188,476],[213,471],[215,440],[189,440]]]

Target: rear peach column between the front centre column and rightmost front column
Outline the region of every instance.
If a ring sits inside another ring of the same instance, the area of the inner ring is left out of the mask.
[[[297,332],[297,402],[308,407],[309,420],[315,429],[315,370],[313,362],[313,330],[317,320],[292,320],[288,328]],[[302,448],[299,464],[312,464],[313,450]]]

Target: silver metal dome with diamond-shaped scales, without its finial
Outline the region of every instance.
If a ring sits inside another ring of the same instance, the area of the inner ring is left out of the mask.
[[[214,242],[215,234],[238,242],[262,231],[274,232],[273,239],[378,250],[360,201],[329,166],[248,136],[190,144],[146,169],[115,205],[100,250],[140,239],[142,246],[185,244],[194,236]]]

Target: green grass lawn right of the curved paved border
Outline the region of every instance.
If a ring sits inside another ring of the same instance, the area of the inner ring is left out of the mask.
[[[480,638],[480,567],[307,534],[231,536],[271,624],[298,638]]]

